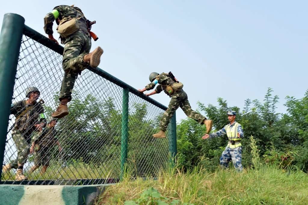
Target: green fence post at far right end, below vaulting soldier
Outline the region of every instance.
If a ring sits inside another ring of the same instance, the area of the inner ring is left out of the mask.
[[[171,156],[172,165],[175,164],[175,157],[177,154],[176,148],[176,112],[174,112],[169,123],[169,152]]]

